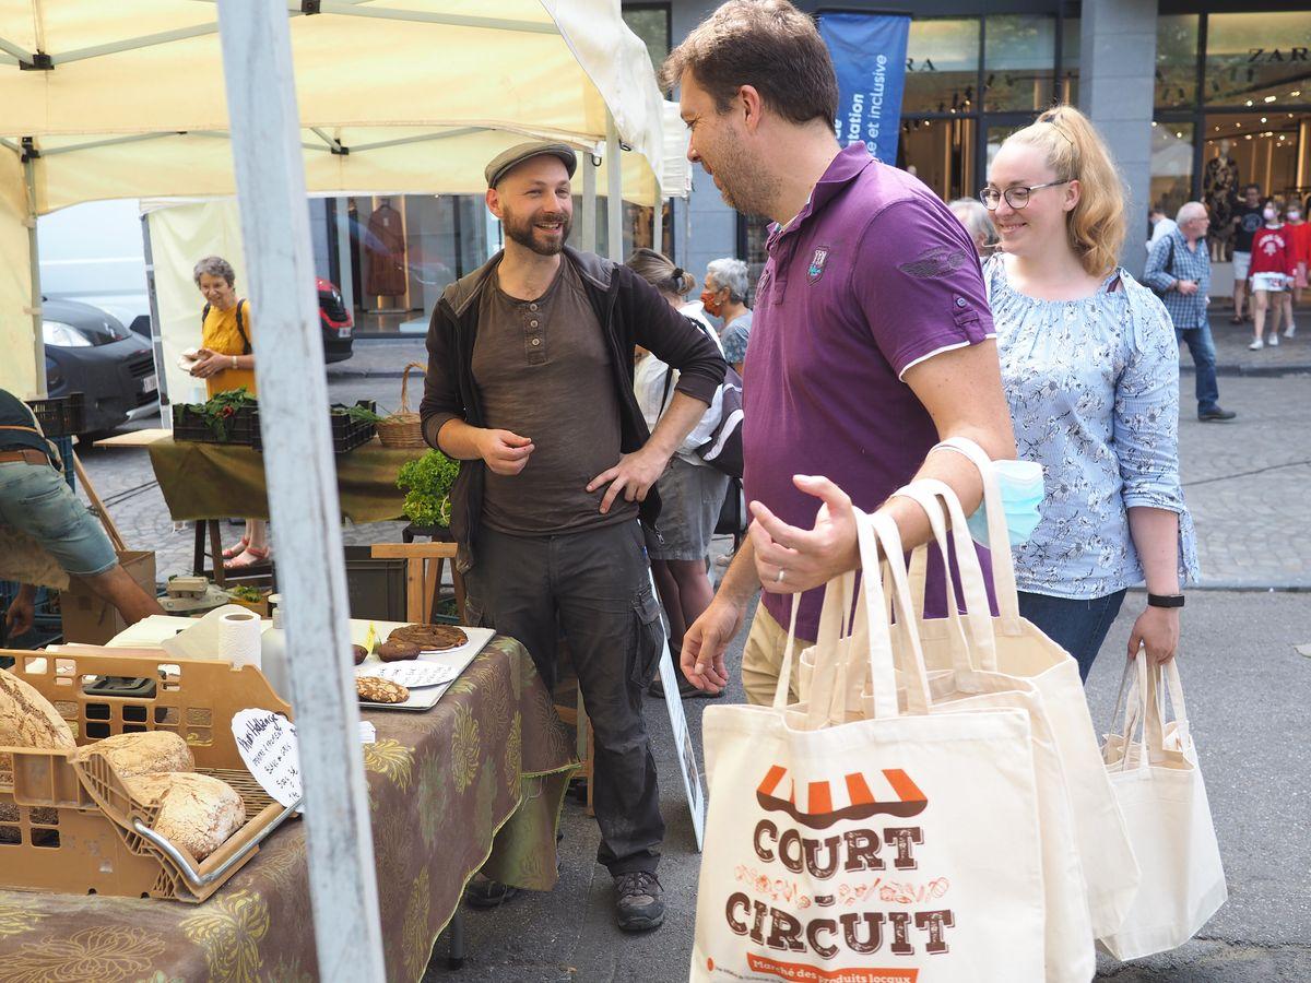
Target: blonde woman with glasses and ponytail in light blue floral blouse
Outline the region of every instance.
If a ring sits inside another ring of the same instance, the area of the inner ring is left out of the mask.
[[[1000,239],[983,275],[1016,447],[1046,484],[1015,553],[1020,611],[1087,679],[1126,588],[1146,581],[1129,654],[1165,662],[1197,569],[1179,347],[1164,305],[1117,265],[1120,176],[1088,119],[1057,106],[1006,140],[979,198]]]

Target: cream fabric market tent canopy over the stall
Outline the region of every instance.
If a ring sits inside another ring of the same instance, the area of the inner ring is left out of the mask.
[[[624,198],[686,193],[686,168],[670,166],[676,123],[617,0],[286,8],[312,194],[481,193],[505,147],[541,138],[600,155],[610,119],[636,151],[623,157]],[[33,353],[4,360],[0,387],[34,395],[33,218],[236,190],[216,4],[0,0],[0,346]]]

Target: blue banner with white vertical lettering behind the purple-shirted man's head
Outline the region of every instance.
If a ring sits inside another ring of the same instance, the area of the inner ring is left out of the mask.
[[[878,160],[895,164],[910,17],[826,13],[819,34],[838,72],[838,143],[864,143]]]

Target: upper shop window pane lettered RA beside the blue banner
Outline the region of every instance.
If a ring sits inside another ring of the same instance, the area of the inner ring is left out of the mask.
[[[978,68],[978,18],[911,21],[902,115],[977,111]]]

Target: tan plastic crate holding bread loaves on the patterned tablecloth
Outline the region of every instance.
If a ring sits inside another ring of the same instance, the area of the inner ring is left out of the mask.
[[[138,820],[153,826],[159,807],[132,798],[102,758],[75,761],[69,759],[76,752],[68,750],[0,747],[0,889],[202,902],[284,818],[243,764],[229,725],[237,710],[250,706],[291,716],[254,666],[233,671],[227,662],[176,659],[148,649],[0,654],[17,659],[13,674],[50,700],[80,746],[111,734],[172,730],[186,739],[197,772],[232,785],[246,807],[245,824],[203,861],[180,848],[190,873],[212,878],[198,885],[182,864],[138,832]],[[87,693],[97,676],[148,679],[155,693]]]

